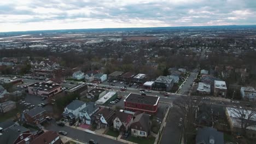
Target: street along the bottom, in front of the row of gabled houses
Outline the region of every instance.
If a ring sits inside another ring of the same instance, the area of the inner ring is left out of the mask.
[[[123,143],[123,142],[119,142],[119,141],[115,141],[112,139],[108,139],[106,137],[103,136],[98,136],[98,135],[94,135],[94,134],[89,134],[89,133],[85,133],[85,131],[82,130],[78,130],[78,129],[74,129],[71,127],[59,127],[56,125],[55,122],[51,122],[50,125],[45,127],[46,130],[53,130],[53,131],[60,131],[60,130],[64,130],[67,131],[67,137],[71,137],[74,140],[79,140],[82,142],[89,142],[89,140],[96,140],[98,143],[106,143],[106,144],[112,144],[112,143]]]

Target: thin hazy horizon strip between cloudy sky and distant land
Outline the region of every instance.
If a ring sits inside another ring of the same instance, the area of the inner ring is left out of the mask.
[[[211,26],[167,26],[167,27],[105,27],[105,28],[72,28],[72,29],[38,29],[38,30],[29,30],[29,31],[8,31],[0,33],[15,33],[15,32],[37,32],[37,31],[74,31],[74,30],[96,30],[96,29],[127,29],[127,28],[182,28],[182,27],[228,27],[228,26],[256,26],[254,25],[211,25]]]

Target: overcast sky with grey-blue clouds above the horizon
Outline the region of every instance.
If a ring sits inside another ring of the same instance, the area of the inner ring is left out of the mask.
[[[256,0],[0,0],[0,32],[255,24]]]

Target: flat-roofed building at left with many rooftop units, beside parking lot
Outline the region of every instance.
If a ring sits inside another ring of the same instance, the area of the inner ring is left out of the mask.
[[[53,83],[53,81],[48,82],[36,82],[28,87],[28,93],[39,95],[41,97],[51,97],[62,91],[61,85]]]

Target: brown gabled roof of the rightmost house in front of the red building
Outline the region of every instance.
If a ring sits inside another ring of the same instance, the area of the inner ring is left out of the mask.
[[[139,127],[137,128],[138,130],[143,130],[143,131],[149,131],[150,129],[150,124],[149,124],[149,115],[147,115],[146,113],[141,113],[139,115],[137,115],[135,117],[135,119],[133,119],[133,122],[131,124],[132,129],[136,129],[135,127],[133,127],[133,124],[138,124],[140,127],[142,127],[142,129],[140,129]]]

